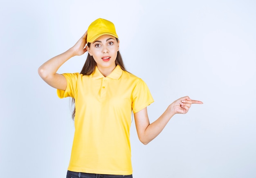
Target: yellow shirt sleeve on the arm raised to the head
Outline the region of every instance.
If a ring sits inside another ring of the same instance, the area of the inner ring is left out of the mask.
[[[67,80],[66,90],[57,89],[57,95],[59,98],[72,97],[74,98],[77,86],[77,78],[79,73],[64,73],[62,74]]]

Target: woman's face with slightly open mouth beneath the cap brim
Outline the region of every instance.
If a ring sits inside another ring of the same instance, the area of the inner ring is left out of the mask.
[[[88,53],[94,58],[99,70],[116,67],[115,60],[119,51],[119,41],[112,35],[101,35],[87,46]]]

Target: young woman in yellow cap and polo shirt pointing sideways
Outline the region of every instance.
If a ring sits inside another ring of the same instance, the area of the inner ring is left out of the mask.
[[[88,57],[81,73],[56,73],[71,57],[86,51]],[[191,104],[202,103],[182,97],[149,123],[147,106],[153,102],[150,91],[143,80],[126,71],[115,26],[101,18],[90,24],[72,48],[40,66],[38,73],[57,89],[58,97],[72,97],[75,103],[67,178],[132,178],[131,112],[139,140],[146,145],[174,114],[185,114]]]

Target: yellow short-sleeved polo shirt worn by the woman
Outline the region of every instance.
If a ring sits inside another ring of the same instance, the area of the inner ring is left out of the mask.
[[[68,170],[93,174],[132,174],[131,113],[146,108],[153,98],[145,82],[117,66],[104,77],[96,67],[91,75],[63,74],[65,91],[74,97],[75,133]]]

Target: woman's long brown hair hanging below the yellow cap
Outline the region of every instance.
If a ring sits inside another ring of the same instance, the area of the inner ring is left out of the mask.
[[[118,39],[116,38],[117,42]],[[87,46],[90,48],[91,43],[88,43]],[[122,70],[127,71],[125,66],[124,66],[124,62],[123,59],[121,57],[121,54],[119,51],[117,51],[117,59],[115,60],[116,66],[119,65],[121,67]],[[80,74],[83,75],[91,75],[93,73],[93,71],[95,70],[95,67],[97,66],[97,63],[95,62],[95,60],[93,59],[93,57],[91,55],[87,55],[87,58],[85,60],[85,64],[83,65],[83,68],[80,72]],[[75,119],[75,114],[76,114],[76,107],[75,107],[75,99],[72,98],[72,105],[74,107],[74,110],[72,112],[72,119]]]

